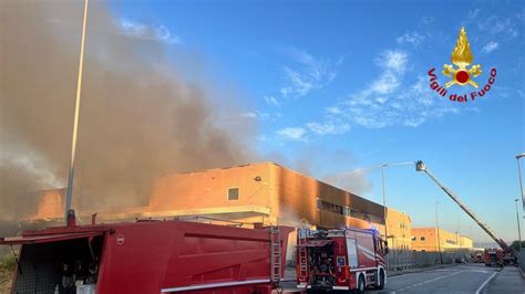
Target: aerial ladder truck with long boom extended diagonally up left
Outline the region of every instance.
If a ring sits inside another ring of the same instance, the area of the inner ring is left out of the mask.
[[[471,217],[477,223],[477,225],[480,225],[480,228],[482,228],[483,231],[485,231],[503,250],[503,254],[496,254],[497,252],[494,252],[494,254],[491,254],[491,252],[495,250],[488,250],[488,251],[485,250],[486,251],[485,255],[496,256],[495,258],[496,264],[500,264],[500,263],[508,264],[511,262],[514,263],[516,261],[513,248],[511,248],[505,241],[503,241],[503,239],[498,238],[496,233],[494,233],[494,231],[492,231],[491,228],[488,228],[486,223],[484,223],[469,207],[466,207],[460,200],[460,198],[454,192],[452,192],[451,189],[446,188],[436,177],[434,177],[434,175],[432,175],[432,172],[429,171],[429,169],[426,168],[425,164],[422,160],[418,160],[415,162],[415,170],[424,171],[426,176],[429,176],[450,198],[452,198],[452,200],[454,200],[454,202],[456,202],[460,206],[460,208],[463,209],[463,211],[465,211],[465,213],[469,214],[469,217]],[[490,262],[488,259],[485,259],[485,263],[487,262]]]

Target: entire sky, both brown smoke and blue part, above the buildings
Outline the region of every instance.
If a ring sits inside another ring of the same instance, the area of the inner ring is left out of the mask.
[[[81,2],[2,2],[9,195],[64,182]],[[497,69],[490,93],[467,103],[432,92],[428,76],[435,67],[447,81],[441,69],[461,27],[482,65],[475,81]],[[271,160],[381,202],[380,169],[369,167],[423,159],[513,240],[524,27],[517,0],[92,1],[75,187],[111,206],[115,193],[140,200],[159,174]],[[385,179],[387,203],[413,225],[434,225],[439,201],[444,229],[488,239],[412,166],[389,167]],[[23,203],[2,201],[8,211]]]

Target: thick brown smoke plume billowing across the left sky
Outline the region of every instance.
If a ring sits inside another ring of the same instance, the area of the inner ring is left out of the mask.
[[[83,1],[0,2],[0,221],[33,213],[34,191],[65,186],[82,12]],[[84,208],[137,204],[156,177],[251,156],[254,127],[222,123],[231,94],[186,82],[165,32],[125,29],[90,3],[75,177]]]

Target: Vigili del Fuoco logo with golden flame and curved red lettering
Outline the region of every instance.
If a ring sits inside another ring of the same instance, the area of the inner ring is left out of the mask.
[[[452,51],[451,61],[453,64],[443,65],[442,73],[450,80],[444,86],[437,83],[435,67],[429,71],[430,88],[443,97],[447,96],[450,101],[454,102],[475,101],[477,97],[485,96],[488,91],[491,91],[492,85],[496,81],[496,69],[491,69],[488,81],[483,87],[480,87],[475,78],[482,74],[482,66],[481,64],[471,65],[474,61],[474,55],[472,55],[471,52],[471,44],[466,38],[465,28],[461,28],[455,48]],[[454,90],[454,86],[473,87],[474,91],[465,94],[449,93],[449,91],[452,92],[452,90]]]

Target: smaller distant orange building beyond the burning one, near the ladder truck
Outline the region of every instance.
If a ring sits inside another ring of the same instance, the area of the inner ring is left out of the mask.
[[[445,252],[473,250],[472,239],[441,228],[412,228],[412,250]]]

